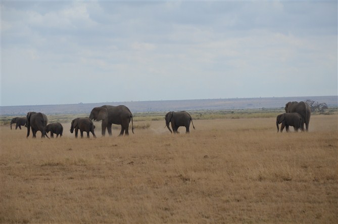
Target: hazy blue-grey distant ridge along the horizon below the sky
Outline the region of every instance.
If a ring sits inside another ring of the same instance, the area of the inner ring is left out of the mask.
[[[125,105],[132,113],[199,111],[199,110],[235,110],[283,108],[289,101],[315,101],[325,103],[327,107],[338,107],[338,96],[324,97],[272,97],[272,98],[233,98],[205,100],[166,100],[166,101],[131,101],[105,103],[79,103],[62,105],[2,106],[2,116],[22,116],[28,111],[39,111],[45,114],[89,114],[91,109],[102,105]]]

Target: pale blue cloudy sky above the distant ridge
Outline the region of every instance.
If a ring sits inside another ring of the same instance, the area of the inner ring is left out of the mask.
[[[337,95],[337,2],[2,1],[1,106]]]

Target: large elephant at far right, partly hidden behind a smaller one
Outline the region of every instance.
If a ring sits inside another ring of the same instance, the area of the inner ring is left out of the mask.
[[[285,104],[285,112],[286,113],[292,113],[292,112],[297,112],[299,113],[303,120],[301,124],[301,129],[304,131],[304,123],[306,125],[306,131],[309,131],[309,122],[310,122],[310,117],[311,117],[311,108],[310,106],[301,101],[301,102],[288,102]]]

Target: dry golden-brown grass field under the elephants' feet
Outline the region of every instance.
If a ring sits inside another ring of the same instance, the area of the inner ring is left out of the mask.
[[[338,223],[337,120],[277,133],[275,118],[201,119],[190,135],[136,121],[150,126],[97,139],[64,124],[51,140],[3,125],[0,222]]]

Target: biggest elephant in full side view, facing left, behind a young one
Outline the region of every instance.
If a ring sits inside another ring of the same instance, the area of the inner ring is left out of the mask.
[[[112,124],[120,124],[121,132],[119,136],[129,135],[129,123],[131,120],[131,131],[134,133],[134,125],[132,121],[132,114],[128,107],[124,105],[110,106],[104,105],[102,107],[94,107],[89,115],[90,120],[102,120],[102,136],[106,135],[106,128],[109,136],[112,136]]]

